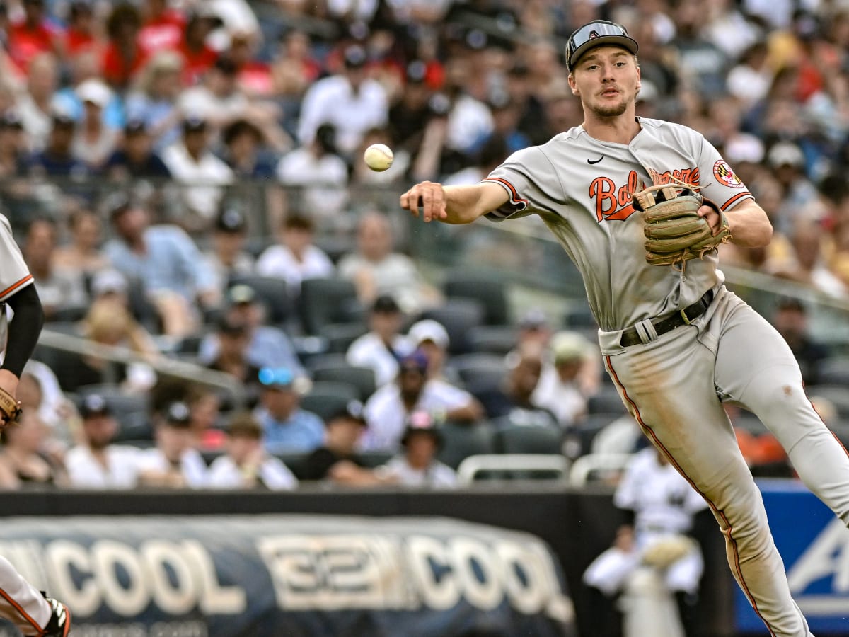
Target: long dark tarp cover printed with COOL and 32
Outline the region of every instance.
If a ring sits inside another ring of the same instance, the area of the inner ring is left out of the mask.
[[[0,555],[75,637],[574,635],[546,544],[447,518],[9,518]]]

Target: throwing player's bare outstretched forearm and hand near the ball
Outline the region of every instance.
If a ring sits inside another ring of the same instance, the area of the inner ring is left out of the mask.
[[[401,195],[401,207],[416,217],[420,213],[425,222],[472,223],[503,206],[507,200],[507,191],[497,183],[443,186],[436,182],[421,182]]]

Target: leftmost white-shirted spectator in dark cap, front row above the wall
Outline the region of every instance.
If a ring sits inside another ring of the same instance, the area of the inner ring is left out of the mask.
[[[65,454],[70,486],[89,489],[131,489],[138,483],[139,459],[143,451],[130,445],[113,444],[118,432],[109,403],[90,393],[80,403],[82,443]]]

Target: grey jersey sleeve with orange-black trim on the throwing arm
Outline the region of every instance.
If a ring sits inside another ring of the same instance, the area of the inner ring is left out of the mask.
[[[486,214],[491,221],[526,217],[543,211],[554,212],[555,202],[564,200],[554,166],[538,146],[510,155],[483,181],[498,183],[509,196],[503,206]]]

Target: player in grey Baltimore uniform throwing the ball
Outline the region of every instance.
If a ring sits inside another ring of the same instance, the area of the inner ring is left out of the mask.
[[[543,219],[581,271],[623,403],[706,499],[740,588],[770,634],[810,635],[722,402],[756,414],[845,523],[849,455],[812,409],[784,339],[717,269],[723,241],[767,245],[767,215],[699,132],[635,116],[637,51],[621,25],[583,25],[566,48],[581,126],[514,153],[476,185],[418,183],[401,206],[425,222]],[[689,219],[662,220],[685,209]]]

